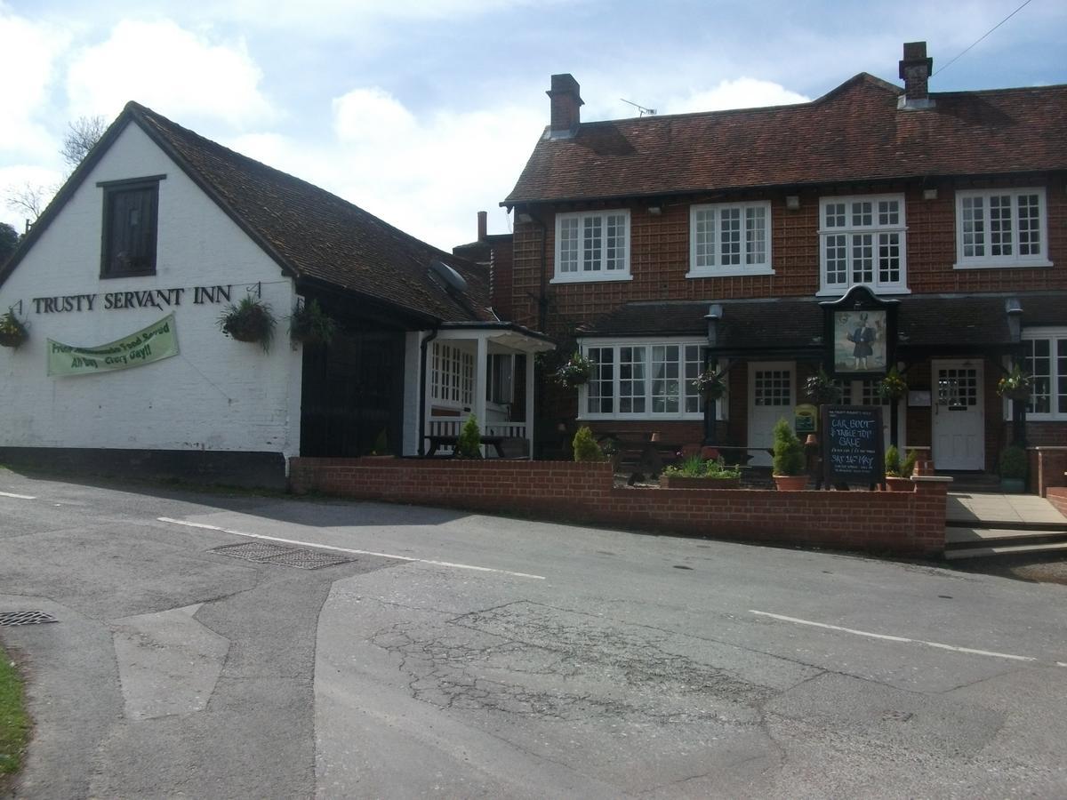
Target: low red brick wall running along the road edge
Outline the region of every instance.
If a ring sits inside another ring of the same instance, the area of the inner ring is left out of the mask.
[[[849,550],[944,549],[947,483],[913,492],[616,489],[608,464],[570,461],[292,459],[297,494],[519,513],[657,532]]]

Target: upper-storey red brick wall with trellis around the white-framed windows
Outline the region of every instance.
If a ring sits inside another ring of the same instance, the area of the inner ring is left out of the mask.
[[[956,270],[956,189],[988,186],[1046,186],[1049,254],[1053,268]],[[937,189],[937,199],[923,199],[923,189]],[[810,297],[818,291],[818,199],[831,194],[904,193],[908,224],[908,287],[913,293],[1024,291],[1067,288],[1067,194],[1062,176],[1020,178],[997,183],[955,179],[925,185],[841,186],[796,192],[800,208],[785,208],[785,193],[736,193],[715,202],[769,199],[774,275],[687,278],[689,202],[662,204],[650,214],[647,204],[620,204],[631,210],[633,281],[548,284],[554,275],[554,209],[545,208],[545,290],[550,300],[546,332],[563,335],[576,322],[623,303],[655,300],[733,300]],[[791,191],[790,193],[794,193]],[[577,207],[574,207],[577,208]],[[571,207],[561,210],[574,210]],[[541,292],[542,230],[538,222],[516,222],[514,239],[514,321],[537,326]]]

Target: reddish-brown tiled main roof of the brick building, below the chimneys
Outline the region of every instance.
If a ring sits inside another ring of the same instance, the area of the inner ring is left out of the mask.
[[[542,139],[508,198],[568,199],[1067,169],[1067,85],[931,93],[865,73],[811,102],[583,123]]]

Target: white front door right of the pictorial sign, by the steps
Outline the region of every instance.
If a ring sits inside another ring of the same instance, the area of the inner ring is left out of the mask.
[[[933,375],[934,467],[985,469],[982,362],[936,361]]]

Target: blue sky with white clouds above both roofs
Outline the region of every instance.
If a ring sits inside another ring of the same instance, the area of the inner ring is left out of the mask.
[[[0,0],[0,222],[62,185],[67,124],[137,100],[444,250],[473,241],[548,122],[803,102],[894,83],[925,41],[931,92],[1067,83],[1067,2],[1031,0]],[[966,54],[949,65],[967,47]],[[947,65],[947,66],[946,66]],[[937,70],[944,69],[943,74]]]

